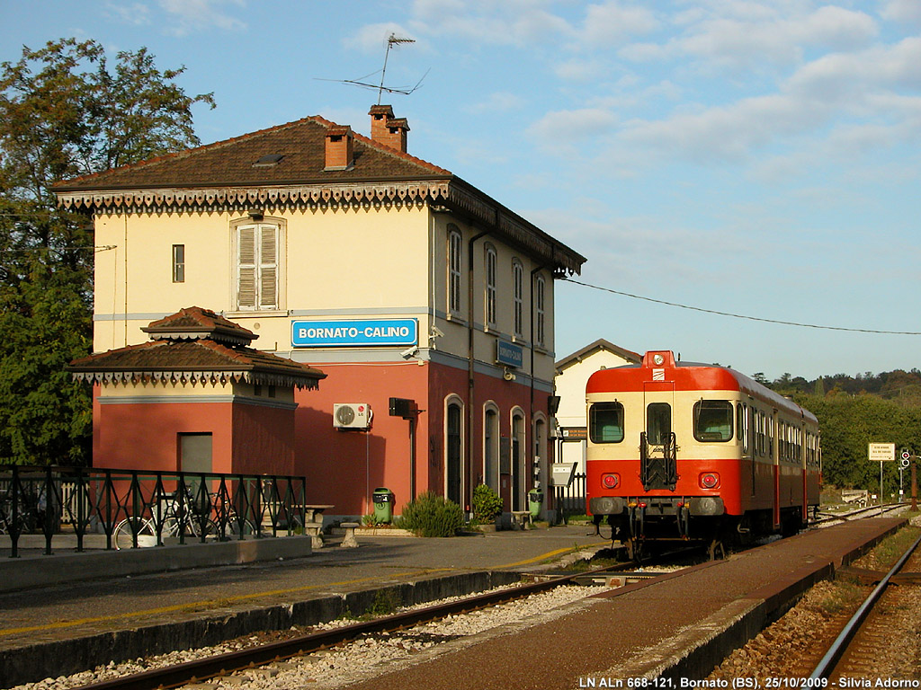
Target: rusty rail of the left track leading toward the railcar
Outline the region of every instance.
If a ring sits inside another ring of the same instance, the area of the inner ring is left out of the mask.
[[[547,581],[532,582],[498,592],[477,594],[457,602],[436,604],[414,611],[383,616],[372,621],[309,633],[308,635],[278,642],[270,642],[246,650],[230,651],[224,654],[204,657],[203,659],[184,661],[173,666],[133,673],[108,681],[81,685],[78,690],[157,690],[158,688],[178,687],[184,684],[204,681],[207,678],[213,678],[218,675],[227,675],[235,671],[262,666],[272,661],[282,661],[298,655],[309,654],[311,651],[327,649],[360,638],[362,635],[402,630],[449,615],[464,614],[476,609],[522,599],[530,594],[545,592],[568,584],[576,578],[585,577],[592,572],[629,569],[634,565],[635,563],[623,563],[607,568],[563,575]]]

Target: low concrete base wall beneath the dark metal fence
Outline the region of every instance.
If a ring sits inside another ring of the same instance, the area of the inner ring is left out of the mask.
[[[55,553],[0,559],[0,592],[48,587],[99,577],[126,577],[172,570],[239,565],[278,558],[303,558],[312,553],[310,538],[302,535],[243,541],[152,546],[150,548]]]

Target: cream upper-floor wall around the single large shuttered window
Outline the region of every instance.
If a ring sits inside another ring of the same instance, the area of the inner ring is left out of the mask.
[[[254,347],[289,350],[291,317],[286,312],[231,309],[231,224],[244,218],[242,213],[99,217],[97,246],[114,248],[96,257],[94,350],[145,342],[140,328],[192,305],[225,312],[256,332],[260,338]],[[286,224],[287,310],[375,309],[374,316],[387,317],[388,307],[419,307],[418,314],[394,316],[418,317],[420,333],[428,332],[427,209],[266,211],[269,218]],[[182,283],[172,282],[174,244],[185,245]]]

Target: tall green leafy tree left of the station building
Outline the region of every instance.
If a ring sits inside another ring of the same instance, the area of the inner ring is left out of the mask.
[[[199,144],[192,106],[145,48],[110,69],[94,40],[0,64],[0,463],[87,464],[88,391],[64,373],[92,339],[91,219],[54,182]]]

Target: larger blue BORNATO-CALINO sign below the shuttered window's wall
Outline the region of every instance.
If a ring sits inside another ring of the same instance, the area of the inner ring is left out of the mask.
[[[415,345],[418,338],[419,322],[414,318],[291,322],[291,345],[295,348]]]

